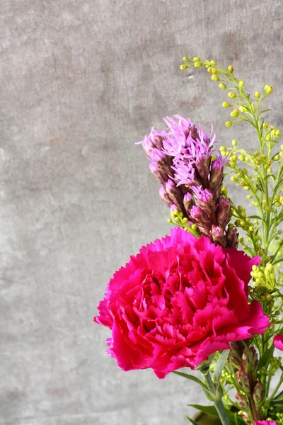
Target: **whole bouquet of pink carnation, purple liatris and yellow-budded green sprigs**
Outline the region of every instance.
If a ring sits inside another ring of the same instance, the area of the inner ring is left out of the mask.
[[[213,129],[180,115],[151,129],[141,144],[175,227],[114,274],[94,320],[111,329],[108,353],[120,368],[194,381],[213,403],[195,407],[220,424],[283,424],[283,145],[262,118],[272,87],[252,96],[232,66],[183,61],[218,81],[232,109],[226,127],[248,122],[258,150],[236,140],[217,147]],[[227,175],[251,214],[229,197]]]

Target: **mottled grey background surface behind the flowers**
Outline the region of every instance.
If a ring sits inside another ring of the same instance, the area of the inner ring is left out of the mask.
[[[93,314],[112,272],[168,232],[134,142],[180,113],[255,145],[184,55],[272,85],[282,128],[282,1],[1,0],[0,20],[0,424],[187,424],[195,384],[122,372]]]

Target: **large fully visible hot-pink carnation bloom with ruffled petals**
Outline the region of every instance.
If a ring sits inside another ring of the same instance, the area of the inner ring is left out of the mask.
[[[165,378],[262,334],[269,319],[260,302],[248,304],[259,262],[180,228],[143,246],[114,274],[94,318],[112,330],[108,353],[123,370],[152,368]]]

